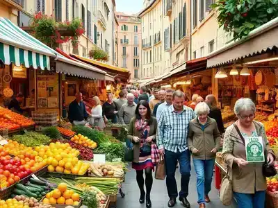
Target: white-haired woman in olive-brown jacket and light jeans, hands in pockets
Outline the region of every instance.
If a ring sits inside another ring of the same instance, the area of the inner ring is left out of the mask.
[[[214,119],[208,117],[209,107],[206,103],[198,103],[195,107],[197,117],[189,122],[188,148],[193,157],[197,174],[197,193],[199,207],[206,207],[210,202],[213,167],[216,152],[220,148],[220,132]]]

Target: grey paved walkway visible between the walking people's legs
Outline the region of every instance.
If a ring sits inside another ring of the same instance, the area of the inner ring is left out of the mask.
[[[154,174],[153,174],[154,175]],[[176,173],[177,184],[179,186],[181,177],[179,169]],[[180,186],[179,186],[180,187]],[[179,190],[180,188],[178,188]],[[189,196],[188,200],[192,208],[198,208],[197,204],[197,190],[196,190],[196,173],[194,167],[192,167],[190,184],[189,184]],[[123,183],[123,191],[126,194],[125,198],[121,198],[120,195],[117,196],[117,208],[143,208],[145,204],[140,205],[138,202],[140,197],[140,191],[136,182],[136,172],[131,169],[126,173],[125,182]],[[211,202],[206,205],[208,208],[224,208],[226,206],[222,205],[219,200],[218,190],[214,187],[214,181],[211,193],[209,194]],[[164,180],[155,180],[152,187],[151,193],[152,207],[153,208],[167,208],[167,202],[169,200],[167,196],[167,189]],[[183,207],[179,202],[175,207]],[[236,208],[236,205],[228,206],[228,208]]]

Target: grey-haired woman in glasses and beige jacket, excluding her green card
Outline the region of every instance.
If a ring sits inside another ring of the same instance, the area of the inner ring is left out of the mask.
[[[263,175],[263,163],[246,161],[245,139],[262,137],[265,159],[269,165],[275,161],[270,149],[263,124],[254,121],[256,106],[250,98],[236,101],[234,112],[238,121],[227,128],[224,136],[222,158],[232,174],[234,197],[239,208],[259,208],[265,206],[266,182]]]

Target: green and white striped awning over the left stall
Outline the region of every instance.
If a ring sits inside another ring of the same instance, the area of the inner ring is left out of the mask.
[[[0,17],[0,60],[4,64],[23,64],[26,68],[50,69],[49,56],[56,57],[48,46],[21,28],[15,26],[9,19]]]

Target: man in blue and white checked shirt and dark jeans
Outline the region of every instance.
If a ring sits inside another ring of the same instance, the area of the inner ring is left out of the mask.
[[[183,207],[189,208],[188,184],[190,180],[190,152],[187,146],[189,121],[195,119],[195,113],[190,107],[183,105],[184,95],[181,91],[174,92],[173,104],[163,110],[158,121],[156,140],[159,153],[164,155],[166,168],[166,186],[170,198],[168,207],[174,207],[178,196],[175,178],[176,164],[179,161],[181,173],[181,191],[179,200]]]

